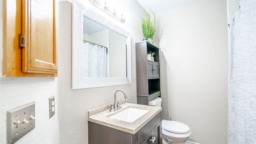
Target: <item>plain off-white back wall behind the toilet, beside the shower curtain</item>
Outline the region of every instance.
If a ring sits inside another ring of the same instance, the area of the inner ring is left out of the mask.
[[[160,22],[163,118],[190,126],[190,141],[227,143],[228,21],[225,0],[199,0]]]

